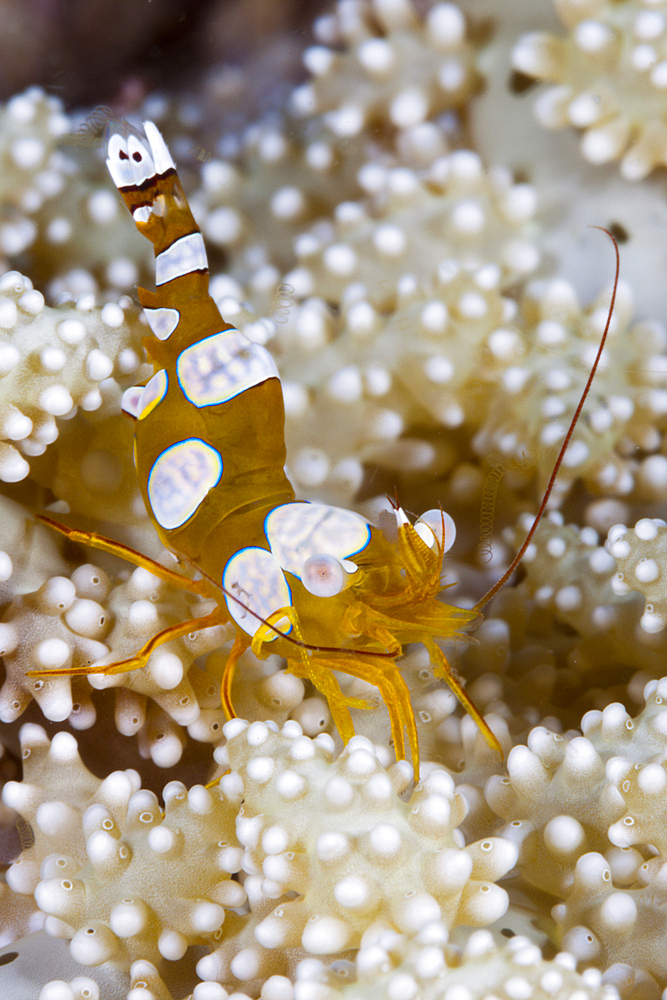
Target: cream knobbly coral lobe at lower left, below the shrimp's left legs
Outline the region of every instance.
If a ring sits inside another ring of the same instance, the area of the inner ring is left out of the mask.
[[[34,891],[48,914],[46,929],[72,939],[78,962],[175,960],[189,945],[219,937],[225,908],[246,898],[230,879],[242,853],[234,835],[238,797],[172,781],[162,813],[136,772],[94,778],[66,733],[49,745],[43,730],[25,727],[23,746],[25,780],[9,783],[4,797],[36,839],[31,860],[13,866],[10,884]],[[43,785],[44,764],[56,760],[63,775],[57,789],[48,779]]]

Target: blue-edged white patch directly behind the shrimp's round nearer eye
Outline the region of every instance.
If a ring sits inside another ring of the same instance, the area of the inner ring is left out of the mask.
[[[300,579],[313,556],[333,556],[344,564],[366,548],[371,529],[366,518],[351,510],[323,503],[286,503],[267,515],[264,534],[283,569]]]

